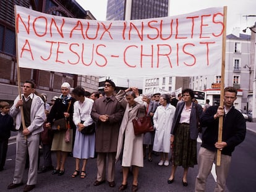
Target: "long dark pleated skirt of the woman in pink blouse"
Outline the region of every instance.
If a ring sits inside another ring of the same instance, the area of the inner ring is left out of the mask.
[[[190,139],[189,124],[179,124],[174,135],[173,165],[184,168],[197,165],[197,140]]]

